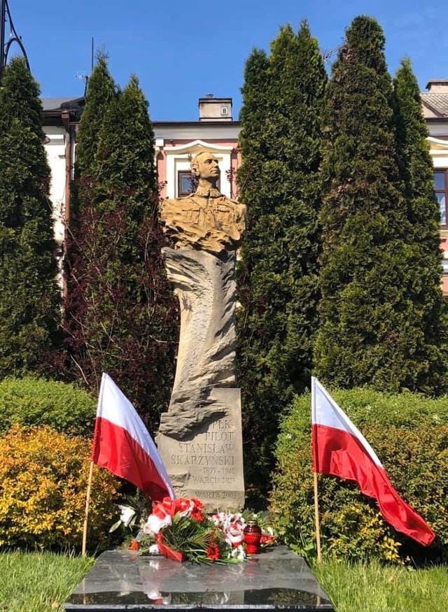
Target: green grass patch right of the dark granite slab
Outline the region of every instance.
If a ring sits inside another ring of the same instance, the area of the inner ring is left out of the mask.
[[[313,571],[337,612],[447,612],[448,567],[323,562]]]

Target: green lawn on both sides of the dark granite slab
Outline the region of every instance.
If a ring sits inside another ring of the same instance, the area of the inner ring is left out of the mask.
[[[0,554],[0,612],[62,612],[92,558]],[[314,567],[337,612],[446,612],[448,567],[412,570],[377,563]]]

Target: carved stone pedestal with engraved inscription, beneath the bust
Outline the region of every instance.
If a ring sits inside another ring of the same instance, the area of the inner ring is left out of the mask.
[[[176,378],[158,450],[178,497],[208,512],[244,507],[241,394],[235,387],[235,251],[165,248],[181,308]]]

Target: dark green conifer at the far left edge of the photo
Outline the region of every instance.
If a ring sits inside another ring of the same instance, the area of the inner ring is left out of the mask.
[[[48,373],[59,344],[39,93],[25,59],[13,59],[0,88],[0,377]]]

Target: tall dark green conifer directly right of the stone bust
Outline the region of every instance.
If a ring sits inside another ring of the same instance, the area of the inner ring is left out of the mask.
[[[307,22],[255,50],[242,89],[237,325],[248,478],[267,484],[281,411],[309,383],[317,327],[321,104],[326,74]],[[252,470],[252,472],[251,472]]]

